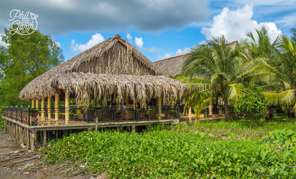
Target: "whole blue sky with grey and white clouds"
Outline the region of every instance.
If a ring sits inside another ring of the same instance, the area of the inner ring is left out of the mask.
[[[274,40],[296,27],[296,0],[10,0],[0,2],[0,35],[12,10],[37,15],[37,29],[51,35],[65,60],[116,34],[157,61],[212,36],[231,42],[264,25]]]

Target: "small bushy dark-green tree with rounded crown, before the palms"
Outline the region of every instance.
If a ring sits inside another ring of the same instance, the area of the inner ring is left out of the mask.
[[[252,128],[253,121],[260,119],[266,113],[266,103],[260,86],[251,84],[250,87],[245,88],[244,94],[237,100],[234,109],[251,119]]]

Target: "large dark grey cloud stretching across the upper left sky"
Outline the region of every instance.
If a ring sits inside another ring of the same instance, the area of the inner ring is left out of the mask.
[[[138,32],[182,29],[190,23],[207,20],[209,0],[126,1],[49,0],[1,2],[0,29],[13,9],[38,15],[38,29],[51,35],[71,32],[119,32],[133,28]],[[5,26],[6,27],[6,26]]]

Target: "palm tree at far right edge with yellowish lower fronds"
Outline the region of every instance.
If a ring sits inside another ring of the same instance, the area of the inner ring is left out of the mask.
[[[252,73],[257,74],[263,85],[265,95],[270,105],[296,108],[296,29],[290,29],[292,36],[281,35],[279,45],[274,52],[278,55],[279,67],[274,67],[265,60],[257,61]]]

